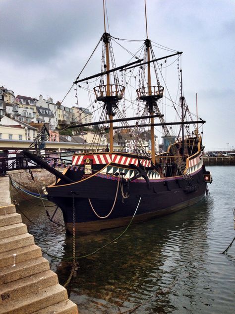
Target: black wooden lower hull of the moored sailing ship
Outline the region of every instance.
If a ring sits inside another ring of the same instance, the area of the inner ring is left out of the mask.
[[[206,191],[204,174],[201,167],[190,180],[178,176],[128,183],[119,176],[98,173],[72,184],[60,182],[49,187],[48,199],[62,210],[68,232],[72,232],[73,213],[76,233],[93,232],[127,225],[136,209],[134,223],[198,202]]]

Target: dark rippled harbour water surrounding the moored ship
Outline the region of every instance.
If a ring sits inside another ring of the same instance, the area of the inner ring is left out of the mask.
[[[79,260],[68,287],[79,314],[116,314],[142,304],[134,313],[232,314],[235,311],[235,167],[207,167],[210,194],[175,214],[132,225],[110,246]],[[35,200],[34,200],[35,201]],[[50,204],[50,203],[47,203]],[[43,207],[22,203],[29,232],[44,251],[72,255],[72,238],[50,223]],[[53,207],[49,208],[53,213]],[[61,215],[55,220],[62,222]],[[95,251],[115,239],[122,228],[76,239],[76,255]],[[49,258],[63,284],[71,262]]]

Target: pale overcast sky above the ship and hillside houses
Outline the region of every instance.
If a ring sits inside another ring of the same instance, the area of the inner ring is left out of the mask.
[[[198,93],[206,150],[235,148],[235,0],[146,2],[149,38],[183,52],[184,96],[195,106]],[[106,3],[113,36],[146,38],[144,0]],[[102,0],[0,0],[0,86],[62,100],[103,32]]]

